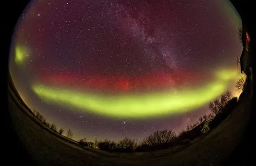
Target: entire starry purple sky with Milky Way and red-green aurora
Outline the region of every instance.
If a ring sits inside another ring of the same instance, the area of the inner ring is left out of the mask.
[[[236,95],[239,27],[227,0],[32,1],[9,70],[22,100],[74,139],[140,140]]]

